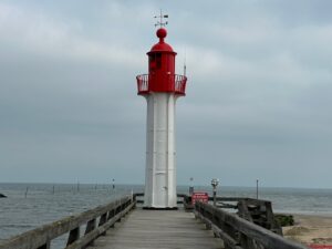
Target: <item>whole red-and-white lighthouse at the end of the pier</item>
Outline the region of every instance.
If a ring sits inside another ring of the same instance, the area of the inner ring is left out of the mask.
[[[187,77],[175,74],[176,52],[165,42],[167,31],[160,13],[160,28],[148,56],[148,74],[136,76],[137,94],[147,103],[146,169],[144,208],[177,209],[175,106],[185,96]]]

